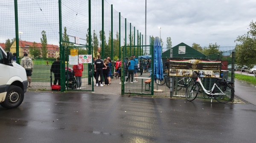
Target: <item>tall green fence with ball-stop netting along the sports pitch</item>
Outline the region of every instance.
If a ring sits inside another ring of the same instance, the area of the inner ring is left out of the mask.
[[[134,44],[141,43],[139,31],[106,0],[2,0],[1,5],[0,42],[6,43],[6,51],[17,53],[17,63],[24,53],[33,60],[30,90],[51,90],[49,71],[57,57],[61,91],[69,90],[65,69],[70,66],[71,47],[79,49],[79,54],[101,54],[102,59],[109,56],[116,61],[121,58],[121,46],[130,40],[126,31],[132,29]],[[84,90],[94,90],[94,79],[86,79],[92,68],[93,64],[84,64],[84,85],[88,85]]]

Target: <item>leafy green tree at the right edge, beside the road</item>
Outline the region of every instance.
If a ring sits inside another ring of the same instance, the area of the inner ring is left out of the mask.
[[[251,21],[247,34],[238,36],[235,40],[236,43],[236,63],[239,65],[247,65],[252,67],[256,64],[256,22]]]

